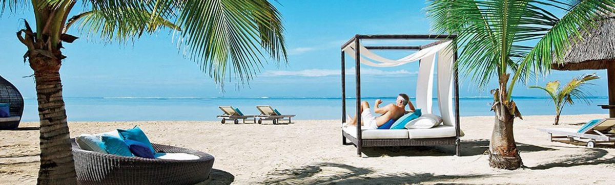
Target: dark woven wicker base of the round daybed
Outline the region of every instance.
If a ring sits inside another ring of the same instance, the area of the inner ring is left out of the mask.
[[[196,184],[208,180],[213,156],[200,151],[152,143],[157,152],[186,153],[195,160],[146,159],[86,151],[74,139],[79,184]]]

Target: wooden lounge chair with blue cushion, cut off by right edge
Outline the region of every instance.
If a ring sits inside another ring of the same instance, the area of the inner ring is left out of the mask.
[[[542,132],[549,133],[549,140],[553,142],[554,138],[568,138],[570,142],[579,141],[586,142],[588,148],[593,148],[596,143],[615,142],[615,118],[593,119],[585,123],[581,129],[569,128],[549,128],[538,129]]]

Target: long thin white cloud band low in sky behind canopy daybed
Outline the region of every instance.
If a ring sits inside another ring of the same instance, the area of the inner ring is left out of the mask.
[[[346,75],[354,75],[355,68],[346,69]],[[338,69],[305,69],[305,70],[267,70],[261,74],[262,77],[328,77],[339,76],[341,70]],[[379,70],[379,69],[361,69],[361,75],[379,75],[379,76],[394,76],[394,75],[415,75],[418,72],[410,72],[408,70]]]

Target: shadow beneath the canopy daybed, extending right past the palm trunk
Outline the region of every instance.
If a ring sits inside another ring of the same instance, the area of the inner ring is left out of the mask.
[[[555,150],[542,146],[517,143],[522,153]],[[489,149],[489,140],[462,140],[461,156],[478,156]],[[403,147],[367,147],[363,154],[368,157],[381,156],[453,156],[454,146],[403,146]]]

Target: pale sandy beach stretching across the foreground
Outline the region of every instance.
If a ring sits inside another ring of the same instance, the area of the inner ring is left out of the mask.
[[[341,145],[338,120],[295,124],[220,124],[217,121],[69,122],[71,136],[135,125],[154,143],[197,149],[215,156],[210,184],[612,184],[615,147],[549,142],[540,127],[572,127],[608,115],[526,116],[515,122],[525,168],[496,170],[487,157],[493,116],[461,119],[462,156],[452,146],[368,148]],[[0,130],[0,184],[35,184],[38,123]]]

